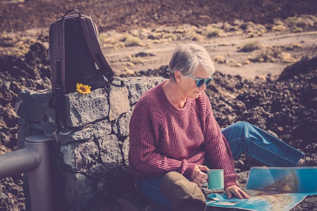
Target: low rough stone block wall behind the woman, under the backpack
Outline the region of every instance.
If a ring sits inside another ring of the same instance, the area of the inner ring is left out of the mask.
[[[107,91],[66,95],[66,127],[56,133],[55,111],[49,107],[51,90],[18,93],[18,148],[24,147],[28,136],[56,137],[50,143],[56,210],[100,210],[134,187],[127,172],[130,117],[140,96],[166,78],[120,79]],[[27,190],[25,182],[26,199]]]

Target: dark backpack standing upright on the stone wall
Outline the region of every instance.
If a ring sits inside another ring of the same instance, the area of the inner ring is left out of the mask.
[[[66,16],[71,12],[77,14]],[[74,92],[77,83],[88,85],[91,90],[109,89],[114,72],[100,48],[95,22],[76,9],[67,11],[51,24],[49,41],[53,93],[50,106],[55,109],[57,130],[60,131],[60,119],[66,125],[65,94]]]

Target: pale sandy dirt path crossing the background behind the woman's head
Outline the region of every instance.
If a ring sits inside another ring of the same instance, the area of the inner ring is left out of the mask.
[[[246,43],[251,41],[259,41],[264,47],[280,47],[287,51],[287,47],[298,46],[298,48],[289,49],[288,52],[297,61],[303,56],[313,57],[316,55],[317,48],[317,31],[302,32],[302,33],[285,33],[276,35],[276,33],[265,33],[260,37],[246,38],[244,36],[216,37],[205,40],[200,43],[205,46],[212,58],[223,56],[225,62],[216,62],[215,67],[218,71],[240,75],[242,77],[253,79],[256,76],[265,76],[266,74],[279,75],[283,69],[292,63],[281,61],[276,62],[251,62],[245,64],[245,61],[256,54],[256,52],[239,52]],[[115,70],[117,75],[127,73],[125,68],[132,71],[148,70],[159,68],[162,65],[168,65],[172,56],[173,50],[179,41],[171,43],[155,44],[151,49],[146,47],[126,47],[120,50],[103,49],[104,54]],[[197,42],[199,43],[199,42]],[[225,45],[220,45],[225,44]],[[127,64],[129,58],[138,53],[145,53],[144,62],[135,64],[129,67]],[[237,66],[236,63],[242,64]]]

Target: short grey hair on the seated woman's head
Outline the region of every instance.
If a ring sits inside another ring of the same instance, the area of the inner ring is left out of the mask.
[[[214,62],[203,46],[195,43],[178,45],[169,64],[170,79],[175,81],[174,73],[180,71],[182,75],[193,74],[201,66],[207,73],[215,72]]]

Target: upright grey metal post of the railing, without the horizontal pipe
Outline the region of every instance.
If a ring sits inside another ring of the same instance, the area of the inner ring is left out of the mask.
[[[41,163],[28,172],[32,211],[55,211],[49,141],[54,137],[31,136],[25,139],[25,148],[34,149]]]

